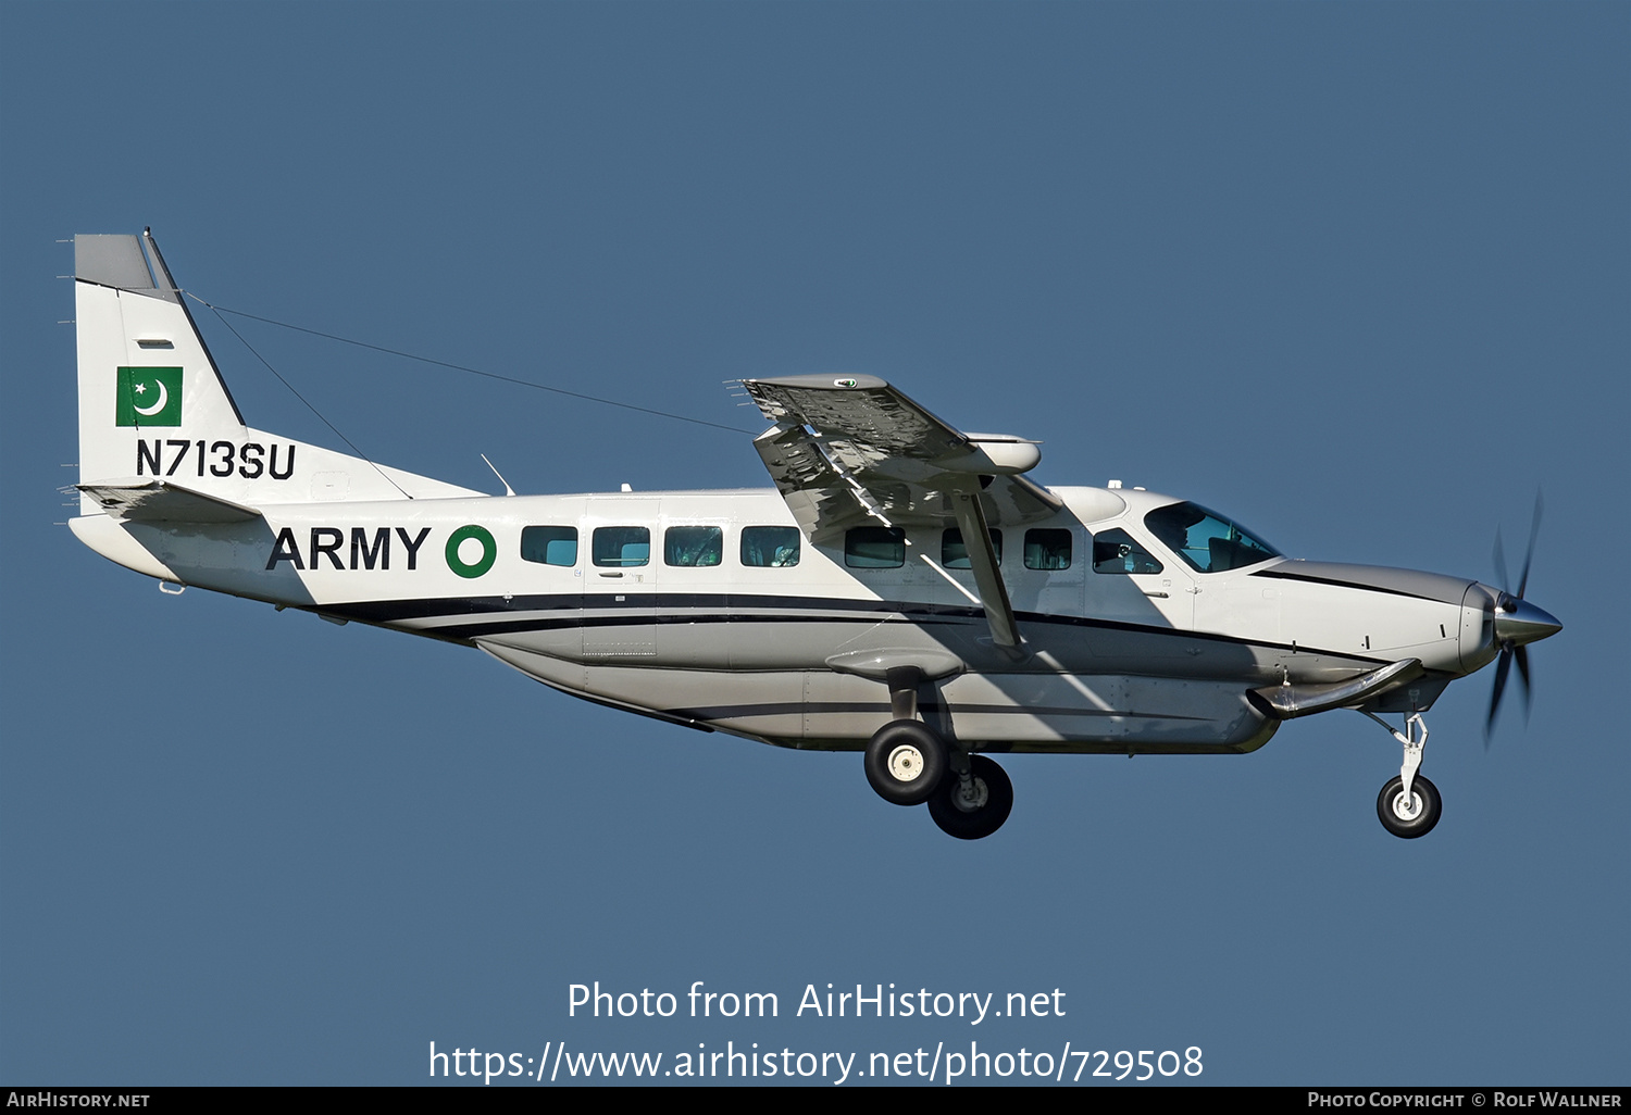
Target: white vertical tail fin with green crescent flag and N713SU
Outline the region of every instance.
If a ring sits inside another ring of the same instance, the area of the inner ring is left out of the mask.
[[[248,507],[480,496],[246,425],[152,231],[75,236],[73,277],[82,486],[161,478]],[[103,507],[85,494],[80,513]]]

